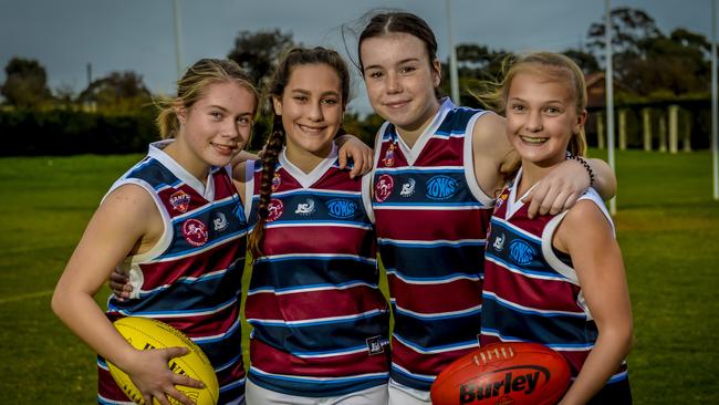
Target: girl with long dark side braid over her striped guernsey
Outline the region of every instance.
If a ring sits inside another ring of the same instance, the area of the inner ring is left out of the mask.
[[[269,84],[263,158],[241,166],[253,257],[248,404],[387,402],[369,177],[351,178],[333,141],[348,96],[340,54],[291,50]]]

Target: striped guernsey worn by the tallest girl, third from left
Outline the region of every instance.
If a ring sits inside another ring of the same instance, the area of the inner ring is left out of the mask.
[[[385,123],[373,209],[395,316],[390,376],[429,391],[479,345],[484,238],[493,199],[478,186],[472,131],[484,112],[448,100],[414,147]]]

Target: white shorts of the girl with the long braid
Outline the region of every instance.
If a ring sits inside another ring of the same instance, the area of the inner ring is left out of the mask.
[[[387,403],[387,384],[340,396],[308,397],[270,391],[248,378],[244,401],[247,405],[377,405]]]

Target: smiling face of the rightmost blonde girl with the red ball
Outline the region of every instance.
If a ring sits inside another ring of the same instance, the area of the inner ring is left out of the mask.
[[[570,85],[540,71],[520,71],[507,95],[507,136],[523,162],[555,165],[586,120],[586,111],[576,110]]]

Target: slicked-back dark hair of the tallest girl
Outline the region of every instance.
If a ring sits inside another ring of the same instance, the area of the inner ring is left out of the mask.
[[[406,33],[418,38],[425,43],[429,65],[431,66],[437,59],[437,39],[425,20],[409,12],[390,11],[374,15],[367,27],[359,34],[357,41],[357,61],[359,61],[359,71],[364,72],[362,63],[362,42],[364,40],[387,35],[390,33]]]

